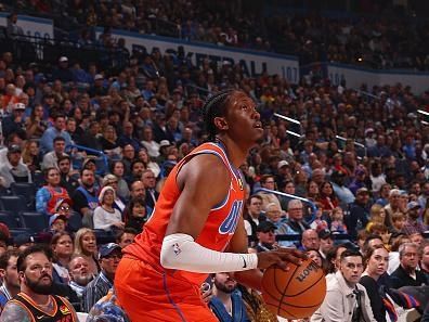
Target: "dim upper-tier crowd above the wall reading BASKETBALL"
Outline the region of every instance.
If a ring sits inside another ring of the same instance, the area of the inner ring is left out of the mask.
[[[28,1],[30,2],[30,1]],[[179,37],[218,46],[299,55],[314,62],[372,68],[429,68],[428,22],[386,12],[379,16],[326,17],[317,13],[273,13],[239,1],[38,1],[41,12],[57,10],[83,28],[94,26]],[[28,7],[23,1],[22,7]],[[402,12],[403,13],[403,12]],[[90,42],[93,42],[92,39]]]

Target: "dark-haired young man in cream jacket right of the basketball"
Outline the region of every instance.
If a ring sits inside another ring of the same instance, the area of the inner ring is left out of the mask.
[[[375,322],[365,287],[359,284],[364,270],[361,253],[344,250],[340,267],[327,280],[326,296],[311,322]]]

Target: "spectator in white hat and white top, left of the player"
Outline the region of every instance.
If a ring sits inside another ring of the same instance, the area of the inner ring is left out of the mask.
[[[109,185],[104,186],[100,192],[99,199],[101,206],[94,209],[94,229],[102,229],[105,231],[123,229],[125,223],[122,221],[122,216],[118,209],[114,208],[115,197],[115,190]]]

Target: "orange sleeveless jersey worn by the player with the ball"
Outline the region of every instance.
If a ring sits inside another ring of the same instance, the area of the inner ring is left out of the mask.
[[[235,232],[243,209],[243,179],[239,170],[234,168],[229,162],[223,145],[220,143],[204,143],[184,157],[171,170],[155,205],[154,214],[144,226],[143,232],[135,237],[133,244],[123,249],[126,255],[144,261],[153,267],[155,271],[164,271],[171,278],[185,280],[194,285],[198,285],[198,287],[206,280],[207,274],[165,269],[160,265],[159,256],[171,212],[181,193],[178,188],[177,176],[186,162],[199,154],[213,154],[218,156],[229,169],[231,182],[227,195],[221,204],[211,209],[204,229],[195,242],[206,248],[218,252],[223,252],[226,248]]]

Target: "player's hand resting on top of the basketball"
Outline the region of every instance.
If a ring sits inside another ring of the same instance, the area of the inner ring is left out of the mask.
[[[270,266],[276,265],[284,270],[287,270],[287,263],[301,265],[302,259],[307,259],[307,255],[301,250],[295,248],[278,248],[271,252],[258,253],[258,268],[266,269]]]

